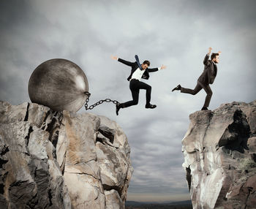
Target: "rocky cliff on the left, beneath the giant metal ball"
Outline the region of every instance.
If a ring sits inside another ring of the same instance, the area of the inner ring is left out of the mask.
[[[0,102],[0,208],[124,208],[129,152],[103,116]]]

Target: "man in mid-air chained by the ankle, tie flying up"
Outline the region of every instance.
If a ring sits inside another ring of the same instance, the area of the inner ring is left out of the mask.
[[[162,65],[159,68],[149,69],[148,66],[150,66],[150,62],[147,60],[143,61],[143,64],[140,65],[139,61],[125,61],[124,59],[118,58],[117,56],[111,56],[111,58],[120,61],[122,64],[126,64],[132,67],[131,74],[127,78],[127,80],[129,80],[129,89],[132,91],[132,100],[121,104],[116,104],[116,115],[118,115],[118,111],[120,110],[120,108],[126,108],[138,104],[140,89],[146,89],[145,107],[150,109],[154,109],[155,107],[157,107],[157,105],[155,104],[150,104],[151,86],[141,82],[140,79],[143,78],[148,80],[149,72],[156,72],[159,69],[165,69],[166,66]]]

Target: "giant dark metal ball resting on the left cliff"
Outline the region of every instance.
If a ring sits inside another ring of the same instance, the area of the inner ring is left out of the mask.
[[[83,70],[63,58],[43,62],[29,79],[31,102],[56,111],[77,112],[86,102],[85,91],[89,91],[89,85]]]

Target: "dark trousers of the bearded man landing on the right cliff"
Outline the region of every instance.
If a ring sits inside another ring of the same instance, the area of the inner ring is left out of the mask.
[[[186,93],[186,94],[197,94],[201,89],[203,88],[204,91],[206,91],[206,100],[205,100],[205,104],[203,104],[203,107],[208,107],[211,101],[211,96],[212,96],[212,91],[211,91],[211,87],[209,85],[205,86],[202,83],[197,81],[197,86],[195,86],[194,89],[190,89],[190,88],[182,88],[181,87],[181,93]]]

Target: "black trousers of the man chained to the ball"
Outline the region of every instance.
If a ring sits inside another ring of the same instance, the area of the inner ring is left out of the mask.
[[[151,100],[151,86],[140,80],[132,79],[129,82],[129,89],[132,91],[132,100],[128,102],[121,103],[121,107],[129,107],[136,105],[139,102],[140,89],[146,89],[146,104],[150,103]]]

